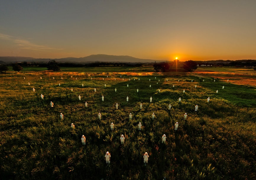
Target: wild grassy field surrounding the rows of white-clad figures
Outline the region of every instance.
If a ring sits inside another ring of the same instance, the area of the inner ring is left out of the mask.
[[[167,76],[149,69],[91,68],[1,74],[1,179],[256,179],[256,86],[232,83],[236,76],[230,74],[207,73]],[[239,77],[253,79],[245,76]]]

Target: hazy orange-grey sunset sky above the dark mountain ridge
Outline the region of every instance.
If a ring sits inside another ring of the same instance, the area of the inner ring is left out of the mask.
[[[3,0],[0,56],[256,59],[255,0]]]

